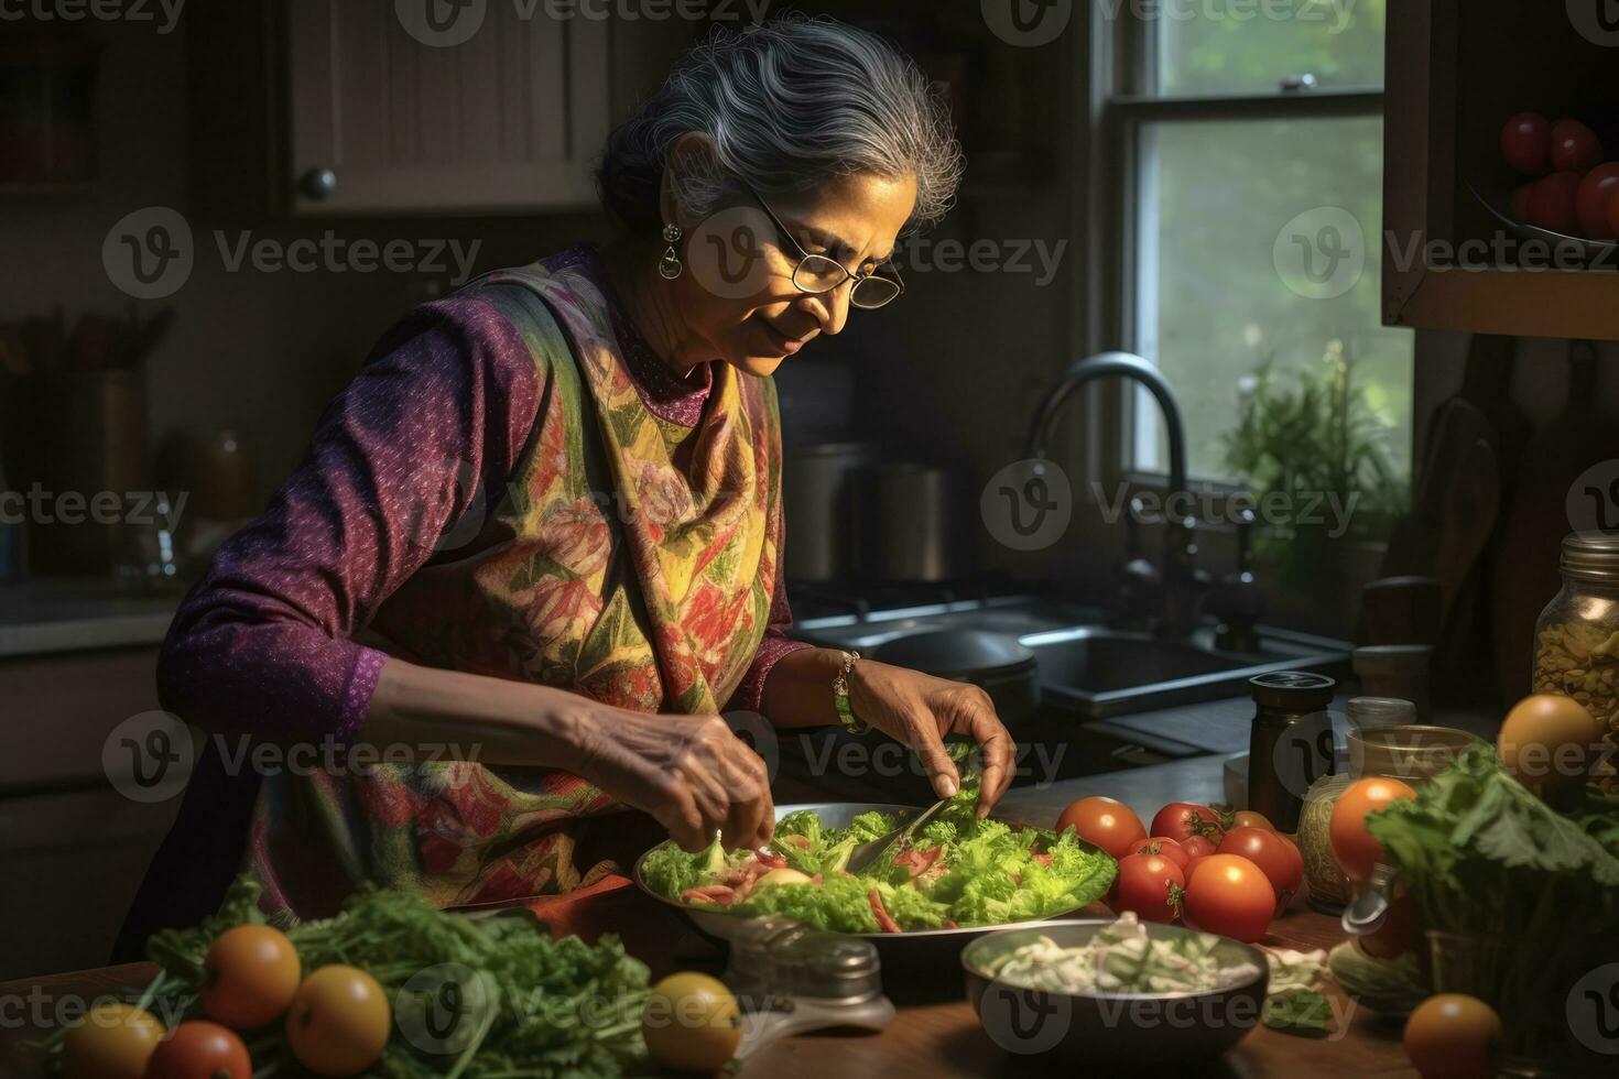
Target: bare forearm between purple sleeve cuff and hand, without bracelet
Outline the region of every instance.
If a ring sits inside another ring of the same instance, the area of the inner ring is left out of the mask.
[[[460,759],[576,772],[606,705],[550,686],[390,658],[355,734],[385,759]]]

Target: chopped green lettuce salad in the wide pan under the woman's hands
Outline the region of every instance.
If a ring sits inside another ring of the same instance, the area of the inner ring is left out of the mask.
[[[1099,899],[1117,874],[1107,854],[1056,835],[979,820],[976,789],[963,788],[908,843],[868,872],[845,865],[855,846],[882,838],[894,814],[868,812],[847,828],[808,809],[788,814],[763,851],[698,854],[654,848],[641,877],[657,895],[742,916],[785,914],[843,933],[903,933],[1002,925],[1065,914]]]

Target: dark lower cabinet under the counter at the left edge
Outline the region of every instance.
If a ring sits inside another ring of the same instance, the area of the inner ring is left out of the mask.
[[[0,977],[99,966],[180,809],[107,778],[118,723],[157,709],[155,647],[0,662]]]

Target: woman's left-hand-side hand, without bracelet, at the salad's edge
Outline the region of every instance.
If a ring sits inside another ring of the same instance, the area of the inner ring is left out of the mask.
[[[754,849],[776,833],[764,759],[717,715],[591,712],[573,725],[570,772],[643,809],[686,851],[719,830],[727,849]]]

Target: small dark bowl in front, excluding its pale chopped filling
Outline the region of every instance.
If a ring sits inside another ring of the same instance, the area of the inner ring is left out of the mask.
[[[989,1039],[1015,1055],[1049,1053],[1086,1061],[1154,1066],[1208,1061],[1232,1048],[1261,1022],[1271,972],[1264,953],[1221,937],[1214,948],[1222,967],[1251,963],[1258,974],[1206,993],[1060,993],[997,980],[996,963],[1039,937],[1077,948],[1112,920],[1086,919],[1002,929],[962,951],[967,1003]],[[1153,940],[1192,930],[1143,922]]]

